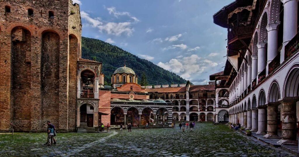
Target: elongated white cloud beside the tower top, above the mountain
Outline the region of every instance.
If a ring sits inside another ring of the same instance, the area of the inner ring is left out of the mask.
[[[131,36],[134,32],[132,22],[108,22],[104,24],[100,18],[91,18],[90,15],[84,11],[81,11],[81,17],[91,24],[92,27],[98,28],[100,32],[106,31],[108,34],[116,36],[121,34]]]

